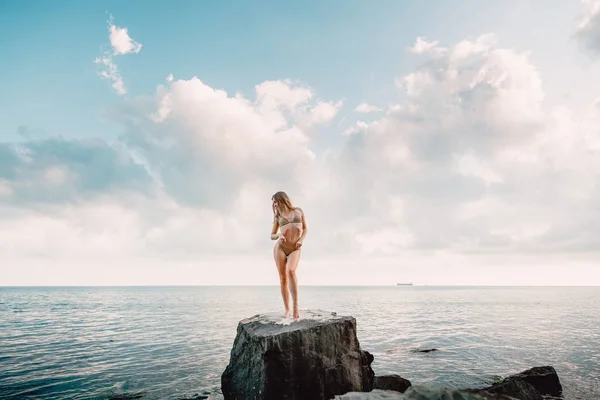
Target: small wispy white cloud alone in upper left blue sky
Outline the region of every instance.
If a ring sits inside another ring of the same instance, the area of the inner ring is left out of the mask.
[[[110,17],[108,24],[108,32],[112,51],[105,52],[104,56],[96,57],[94,62],[101,65],[103,68],[98,72],[98,75],[103,79],[108,79],[112,82],[111,86],[117,94],[124,95],[127,93],[127,88],[123,82],[123,77],[117,69],[117,64],[113,58],[118,55],[134,53],[137,54],[142,49],[142,45],[135,42],[127,33],[127,28],[119,28],[113,24],[113,17]]]

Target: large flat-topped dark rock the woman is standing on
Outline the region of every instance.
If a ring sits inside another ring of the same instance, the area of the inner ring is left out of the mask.
[[[320,310],[300,320],[258,314],[242,320],[221,376],[226,400],[332,399],[373,389],[373,356],[360,349],[356,320]]]

